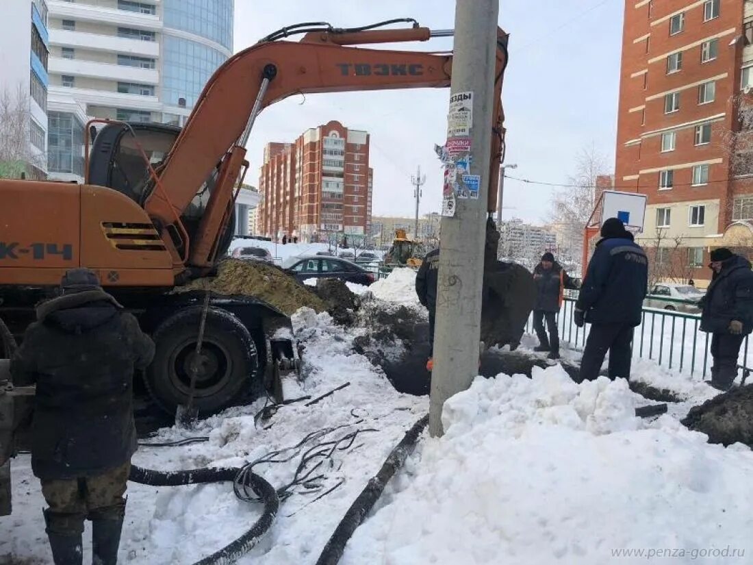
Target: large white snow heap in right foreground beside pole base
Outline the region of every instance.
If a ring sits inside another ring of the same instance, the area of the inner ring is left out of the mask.
[[[342,565],[653,563],[618,553],[651,548],[687,551],[678,563],[734,549],[750,560],[753,453],[707,444],[669,416],[639,420],[634,399],[624,380],[578,385],[559,367],[475,380]]]

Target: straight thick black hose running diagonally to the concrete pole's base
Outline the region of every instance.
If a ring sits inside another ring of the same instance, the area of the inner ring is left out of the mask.
[[[382,469],[377,475],[370,478],[369,483],[364,487],[364,490],[361,490],[361,494],[353,501],[348,512],[340,520],[340,524],[337,524],[337,528],[322,550],[322,554],[319,555],[316,565],[337,565],[340,557],[343,557],[343,551],[345,551],[348,540],[382,495],[389,479],[403,466],[406,457],[413,451],[413,447],[416,447],[419,435],[421,435],[427,423],[428,414],[413,424],[413,427],[407,431],[397,447],[387,456]]]

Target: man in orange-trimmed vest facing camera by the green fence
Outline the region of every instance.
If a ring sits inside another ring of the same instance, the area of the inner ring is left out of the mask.
[[[559,359],[559,333],[557,331],[556,315],[562,307],[564,290],[575,289],[572,279],[562,266],[554,261],[550,252],[541,255],[541,263],[533,270],[536,282],[536,304],[533,307],[533,328],[538,336],[538,347],[535,351],[548,351],[549,359]],[[549,336],[544,331],[544,319],[547,321]]]

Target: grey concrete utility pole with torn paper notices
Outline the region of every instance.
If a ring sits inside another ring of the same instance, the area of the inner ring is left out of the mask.
[[[459,142],[470,138],[463,156],[469,157],[471,175],[480,179],[478,197],[458,198],[454,217],[442,218],[429,405],[429,432],[434,436],[444,433],[444,402],[471,386],[478,374],[498,13],[499,0],[456,0],[450,94],[451,99],[471,102],[470,136]],[[462,110],[468,115],[467,108]],[[448,119],[448,130],[450,123]]]

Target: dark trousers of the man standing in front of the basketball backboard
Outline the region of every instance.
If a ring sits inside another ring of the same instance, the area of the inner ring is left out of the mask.
[[[630,378],[632,324],[592,324],[581,359],[581,380],[596,380],[609,352],[609,378]]]

